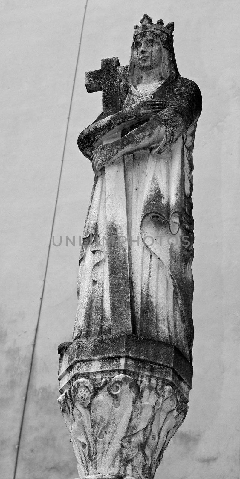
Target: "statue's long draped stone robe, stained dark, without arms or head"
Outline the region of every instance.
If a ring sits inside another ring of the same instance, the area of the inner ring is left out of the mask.
[[[131,83],[122,92],[123,109],[142,98]],[[192,361],[192,151],[201,95],[193,81],[178,75],[151,97],[168,103],[152,117],[164,126],[164,139],[124,156],[120,192],[127,205],[132,332],[174,344]],[[111,333],[105,182],[103,171],[95,177],[87,212],[73,338]]]

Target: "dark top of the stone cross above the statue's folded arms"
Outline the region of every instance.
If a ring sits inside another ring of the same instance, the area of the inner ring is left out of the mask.
[[[101,60],[101,69],[87,71],[85,84],[88,93],[102,91],[103,118],[120,111],[120,81],[128,66],[120,67],[118,57]]]

